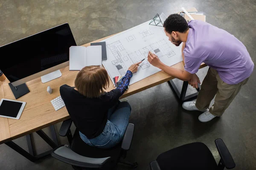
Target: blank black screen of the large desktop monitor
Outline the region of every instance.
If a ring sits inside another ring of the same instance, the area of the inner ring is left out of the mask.
[[[69,60],[76,41],[67,23],[0,47],[0,70],[15,82]]]

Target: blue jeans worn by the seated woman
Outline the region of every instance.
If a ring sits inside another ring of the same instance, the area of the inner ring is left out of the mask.
[[[103,132],[93,139],[88,139],[79,132],[81,139],[90,146],[103,149],[114,147],[122,141],[131,115],[131,106],[128,102],[118,102],[108,111],[108,120]]]

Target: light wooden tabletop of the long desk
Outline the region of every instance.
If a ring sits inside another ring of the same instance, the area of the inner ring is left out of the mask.
[[[102,41],[108,37],[94,42]],[[87,43],[83,46],[89,45],[90,43]],[[206,65],[202,63],[200,68],[205,66]],[[184,69],[184,64],[183,62],[179,62],[172,67]],[[61,77],[50,82],[42,83],[41,78],[37,78],[26,83],[30,92],[18,99],[19,101],[26,102],[26,106],[20,116],[20,119],[16,120],[0,117],[0,144],[69,119],[69,114],[65,107],[55,111],[50,101],[60,95],[59,87],[61,85],[67,84],[74,86],[74,80],[78,71],[69,71],[69,66],[67,66],[61,69],[61,73]],[[165,72],[160,71],[150,77],[134,83],[133,85],[130,85],[128,91],[126,91],[121,98],[136,94],[174,78],[175,77],[171,77]],[[6,80],[3,83],[0,82],[0,99],[15,99],[8,83],[9,80]],[[51,86],[52,94],[48,94],[47,86]],[[111,82],[107,91],[111,91],[112,89],[113,83]]]

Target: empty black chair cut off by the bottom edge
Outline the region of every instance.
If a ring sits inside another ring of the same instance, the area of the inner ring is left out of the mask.
[[[151,170],[224,170],[233,169],[236,164],[222,139],[215,140],[221,160],[215,162],[209,148],[194,142],[161,153],[150,163]]]

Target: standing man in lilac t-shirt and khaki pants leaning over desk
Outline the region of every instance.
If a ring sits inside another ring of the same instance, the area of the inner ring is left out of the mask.
[[[170,76],[188,81],[194,88],[201,83],[196,73],[201,63],[206,63],[209,70],[196,102],[184,102],[182,107],[188,111],[204,111],[198,117],[201,122],[221,116],[253,72],[254,64],[246,47],[223,29],[199,20],[187,23],[179,14],[170,15],[163,27],[174,45],[183,42],[185,69],[169,67],[151,52],[148,61]],[[215,95],[214,105],[209,108]]]

